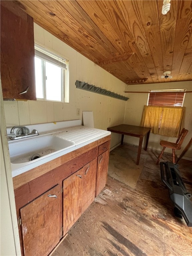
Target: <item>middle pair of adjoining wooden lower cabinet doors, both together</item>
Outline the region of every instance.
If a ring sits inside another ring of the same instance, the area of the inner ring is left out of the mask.
[[[97,159],[63,181],[63,234],[65,235],[95,198]]]

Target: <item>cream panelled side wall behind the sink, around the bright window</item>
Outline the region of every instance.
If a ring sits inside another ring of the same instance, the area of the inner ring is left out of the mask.
[[[126,101],[77,89],[76,80],[126,96],[126,84],[83,55],[34,24],[35,42],[69,60],[69,103],[53,101],[4,102],[7,126],[81,119],[82,111],[93,111],[95,128],[106,130],[124,122]],[[77,116],[77,108],[80,116]],[[110,122],[109,122],[110,121]],[[111,145],[119,142],[113,136]]]

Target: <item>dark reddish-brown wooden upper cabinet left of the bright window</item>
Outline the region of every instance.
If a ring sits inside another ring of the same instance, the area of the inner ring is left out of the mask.
[[[0,6],[3,98],[36,100],[33,18],[5,2]]]

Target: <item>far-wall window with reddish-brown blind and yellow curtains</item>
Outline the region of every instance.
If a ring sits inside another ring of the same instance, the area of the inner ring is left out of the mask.
[[[178,137],[183,128],[184,95],[185,90],[150,91],[140,125],[150,127],[154,134]]]

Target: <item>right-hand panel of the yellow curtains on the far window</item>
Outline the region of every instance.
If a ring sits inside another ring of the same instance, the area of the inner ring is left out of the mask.
[[[183,128],[185,108],[163,107],[163,115],[159,128],[159,135],[178,137]]]

